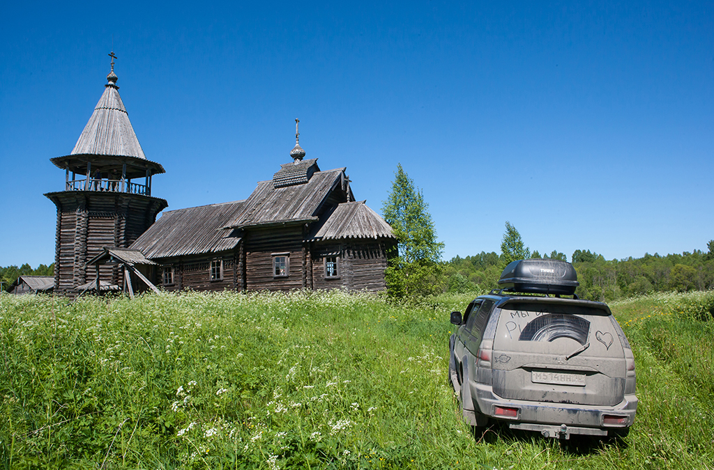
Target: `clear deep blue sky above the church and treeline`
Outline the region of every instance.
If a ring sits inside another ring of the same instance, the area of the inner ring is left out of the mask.
[[[500,252],[506,220],[568,259],[714,238],[710,1],[6,1],[0,24],[0,266],[54,261],[49,159],[112,48],[169,210],[247,198],[300,118],[306,158],[378,212],[401,163],[446,260]]]

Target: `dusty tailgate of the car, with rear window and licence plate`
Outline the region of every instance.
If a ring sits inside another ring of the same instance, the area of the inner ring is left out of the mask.
[[[599,302],[513,299],[493,341],[493,392],[504,399],[613,406],[623,400],[625,353]]]

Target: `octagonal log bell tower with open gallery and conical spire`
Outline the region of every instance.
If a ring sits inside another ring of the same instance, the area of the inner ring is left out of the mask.
[[[86,262],[103,247],[129,247],[168,206],[151,195],[152,177],[164,167],[147,160],[139,145],[116,86],[116,56],[109,55],[108,83],[74,149],[50,159],[65,170],[64,190],[45,194],[57,206],[54,292],[64,295],[95,280]],[[124,273],[103,265],[99,280],[119,287]]]

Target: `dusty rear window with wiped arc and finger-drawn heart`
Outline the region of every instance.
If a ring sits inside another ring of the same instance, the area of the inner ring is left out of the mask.
[[[568,341],[570,340],[570,341]],[[519,349],[552,349],[553,344],[585,345],[599,342],[609,350],[618,341],[618,331],[606,310],[583,305],[558,305],[541,302],[512,302],[501,308],[496,342],[505,347],[518,342]],[[619,341],[618,341],[619,342]],[[527,344],[531,344],[527,347]],[[556,348],[559,349],[559,348]],[[564,349],[567,350],[567,349]]]

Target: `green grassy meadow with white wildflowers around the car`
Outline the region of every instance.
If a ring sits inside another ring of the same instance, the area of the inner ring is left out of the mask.
[[[563,443],[461,419],[448,314],[475,295],[0,295],[0,468],[714,469],[714,292],[610,304],[635,424]]]

